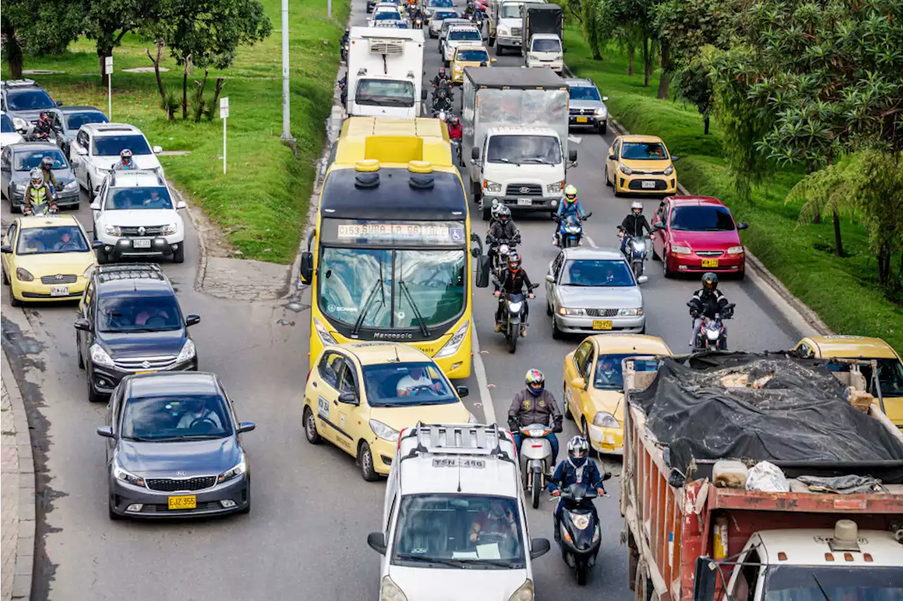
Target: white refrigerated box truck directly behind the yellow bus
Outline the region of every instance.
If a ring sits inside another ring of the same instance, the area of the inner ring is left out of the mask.
[[[351,28],[345,106],[349,116],[421,116],[426,99],[423,75],[422,30]]]

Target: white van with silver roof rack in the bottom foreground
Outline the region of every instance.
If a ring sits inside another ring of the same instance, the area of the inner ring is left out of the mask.
[[[533,601],[531,562],[550,548],[529,537],[510,433],[480,424],[401,431],[367,542],[383,556],[379,598],[406,601]]]

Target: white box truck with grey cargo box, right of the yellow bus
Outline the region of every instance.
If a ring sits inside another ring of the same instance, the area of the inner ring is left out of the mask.
[[[461,159],[470,190],[489,220],[493,203],[554,212],[568,149],[568,88],[548,67],[464,69]]]

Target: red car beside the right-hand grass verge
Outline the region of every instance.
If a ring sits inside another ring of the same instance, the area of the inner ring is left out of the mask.
[[[745,223],[734,221],[731,211],[710,196],[669,196],[656,210],[652,227],[659,227],[653,242],[665,277],[675,273],[731,273],[742,279],[746,253],[740,242]]]

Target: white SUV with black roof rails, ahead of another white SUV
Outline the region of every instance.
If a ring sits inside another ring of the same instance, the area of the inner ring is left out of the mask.
[[[126,257],[185,260],[185,224],[160,171],[114,171],[100,184],[94,211],[98,263]]]

